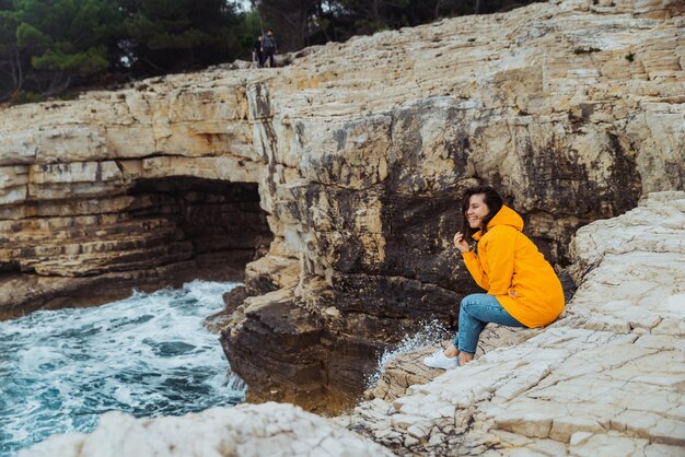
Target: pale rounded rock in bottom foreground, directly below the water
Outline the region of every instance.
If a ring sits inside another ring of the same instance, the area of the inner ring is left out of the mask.
[[[174,418],[104,414],[90,434],[53,436],[22,457],[392,456],[292,405],[241,405]]]

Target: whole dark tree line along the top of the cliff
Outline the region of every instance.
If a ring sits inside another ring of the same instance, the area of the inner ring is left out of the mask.
[[[0,0],[0,102],[24,103],[534,0]]]

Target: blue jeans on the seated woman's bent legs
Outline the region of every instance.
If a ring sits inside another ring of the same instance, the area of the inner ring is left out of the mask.
[[[452,343],[461,352],[475,354],[480,332],[489,323],[509,327],[525,327],[507,313],[507,309],[499,304],[495,295],[471,294],[462,300],[458,333]]]

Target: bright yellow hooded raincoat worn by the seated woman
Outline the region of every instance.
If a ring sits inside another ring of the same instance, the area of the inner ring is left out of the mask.
[[[476,283],[527,327],[552,324],[564,310],[564,291],[554,269],[525,236],[523,220],[503,206],[483,231],[474,234],[478,255],[462,254]]]

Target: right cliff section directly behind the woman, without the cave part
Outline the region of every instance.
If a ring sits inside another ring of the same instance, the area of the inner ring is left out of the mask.
[[[385,343],[432,318],[454,324],[475,292],[450,242],[467,186],[500,188],[558,265],[579,226],[682,188],[681,13],[530,7],[328,45],[282,70],[256,137],[283,166],[274,214],[302,270],[292,297],[274,300],[283,316],[311,317],[298,340],[248,301],[224,331],[231,364],[265,386],[252,398],[311,405],[316,389],[291,388],[289,376],[301,370],[311,385],[315,360],[328,391],[359,395]],[[310,325],[314,344],[302,343]],[[258,339],[260,354],[248,345]],[[282,341],[300,341],[301,360]],[[263,368],[281,358],[287,376]]]

